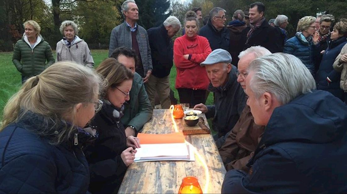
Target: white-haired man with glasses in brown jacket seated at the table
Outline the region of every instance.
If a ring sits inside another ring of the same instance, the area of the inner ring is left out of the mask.
[[[237,81],[246,89],[247,68],[251,62],[259,57],[271,55],[271,52],[261,46],[254,46],[240,52],[236,72]],[[219,149],[219,154],[227,171],[239,169],[248,172],[246,166],[264,132],[264,126],[256,125],[248,105],[243,109],[239,120],[231,129],[225,143]]]

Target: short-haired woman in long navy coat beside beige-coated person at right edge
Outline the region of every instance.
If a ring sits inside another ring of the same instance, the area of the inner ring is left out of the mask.
[[[334,70],[332,64],[340,54],[342,47],[347,43],[347,21],[337,22],[331,32],[328,48],[325,50],[319,69],[316,74],[317,89],[329,91],[343,100],[343,91],[340,88],[341,72]]]

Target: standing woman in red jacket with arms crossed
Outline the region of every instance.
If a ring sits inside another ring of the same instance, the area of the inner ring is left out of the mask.
[[[191,107],[206,101],[206,89],[210,83],[205,67],[200,67],[212,52],[209,41],[197,35],[198,20],[194,11],[186,13],[186,34],[176,38],[174,43],[174,62],[177,69],[176,89],[180,103]]]

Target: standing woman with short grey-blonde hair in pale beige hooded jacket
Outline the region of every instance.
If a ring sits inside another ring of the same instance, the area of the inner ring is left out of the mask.
[[[66,20],[60,25],[60,32],[64,36],[56,47],[56,61],[75,61],[92,68],[94,60],[88,44],[77,36],[78,27],[75,22]]]

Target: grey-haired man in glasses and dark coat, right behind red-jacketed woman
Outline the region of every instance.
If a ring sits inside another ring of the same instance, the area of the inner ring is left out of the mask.
[[[207,38],[212,50],[221,48],[229,51],[230,32],[225,27],[225,10],[220,7],[213,8],[210,13],[210,20],[203,26],[199,35]]]

